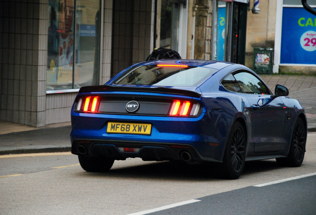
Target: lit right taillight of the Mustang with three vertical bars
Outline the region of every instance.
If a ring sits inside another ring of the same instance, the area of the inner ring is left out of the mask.
[[[169,115],[171,116],[197,116],[200,113],[201,105],[199,103],[174,100],[172,102]]]

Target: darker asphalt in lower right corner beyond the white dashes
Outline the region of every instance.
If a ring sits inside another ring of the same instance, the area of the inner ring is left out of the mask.
[[[316,176],[250,186],[197,201],[149,215],[315,215]]]

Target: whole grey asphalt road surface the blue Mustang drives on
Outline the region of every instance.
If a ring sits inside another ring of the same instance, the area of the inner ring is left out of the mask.
[[[87,173],[69,153],[21,156],[0,156],[0,215],[141,215],[190,200],[200,201],[154,214],[316,214],[316,176],[253,187],[316,173],[316,133],[301,167],[247,162],[238,180],[221,179],[212,165],[127,159],[108,173]]]

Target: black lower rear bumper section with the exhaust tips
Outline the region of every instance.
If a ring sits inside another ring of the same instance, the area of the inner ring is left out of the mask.
[[[139,151],[124,152],[119,148],[136,148]],[[189,153],[192,161],[221,162],[214,158],[202,156],[192,145],[188,144],[92,139],[75,139],[72,143],[73,154],[92,157],[106,156],[114,160],[136,157],[142,158],[144,161],[183,160],[181,158],[182,152]]]

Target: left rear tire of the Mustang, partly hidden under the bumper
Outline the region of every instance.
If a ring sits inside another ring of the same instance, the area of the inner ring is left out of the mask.
[[[78,155],[82,169],[87,172],[107,172],[111,169],[114,160],[106,157],[86,157]]]

